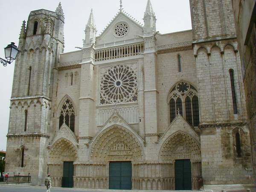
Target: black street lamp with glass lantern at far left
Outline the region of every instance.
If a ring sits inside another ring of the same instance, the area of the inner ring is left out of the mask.
[[[3,58],[0,58],[0,63],[2,63],[4,67],[6,67],[7,63],[11,64],[12,61],[16,59],[17,54],[20,51],[15,45],[15,43],[11,42],[11,44],[7,45],[7,47],[4,48],[4,52],[5,52],[6,60]]]

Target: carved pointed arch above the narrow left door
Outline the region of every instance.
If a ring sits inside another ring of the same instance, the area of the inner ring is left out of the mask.
[[[60,161],[76,161],[77,148],[66,138],[58,139],[49,149],[49,162],[59,163]]]

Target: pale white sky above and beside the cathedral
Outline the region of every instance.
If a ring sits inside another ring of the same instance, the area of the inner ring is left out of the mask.
[[[0,57],[4,56],[4,47],[10,42],[18,44],[23,20],[29,12],[37,9],[55,11],[59,0],[0,0]],[[123,0],[123,9],[143,23],[147,0]],[[189,0],[151,0],[157,17],[157,31],[170,33],[191,29]],[[119,0],[61,0],[65,16],[64,52],[82,47],[84,28],[90,9],[93,9],[97,35],[119,11]],[[0,150],[6,150],[6,134],[9,123],[9,105],[12,92],[12,79],[15,64],[3,67],[0,64]]]

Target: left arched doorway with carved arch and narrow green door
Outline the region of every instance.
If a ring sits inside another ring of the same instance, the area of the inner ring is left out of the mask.
[[[52,186],[73,187],[73,162],[77,159],[77,148],[65,138],[58,139],[49,150],[48,172]]]

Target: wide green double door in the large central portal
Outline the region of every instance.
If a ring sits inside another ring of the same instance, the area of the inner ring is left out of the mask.
[[[131,161],[109,162],[109,189],[131,189]]]

